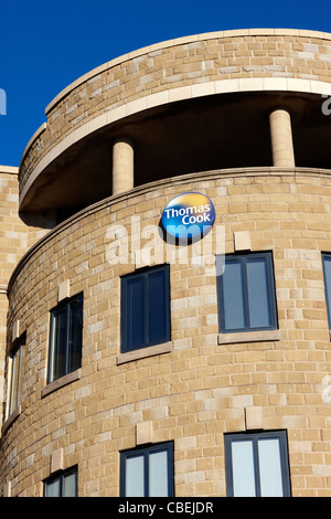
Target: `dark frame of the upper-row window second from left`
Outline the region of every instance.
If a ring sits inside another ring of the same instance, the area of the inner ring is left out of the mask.
[[[70,331],[71,331],[71,306],[73,303],[77,300],[82,300],[82,340],[81,340],[81,358],[79,358],[79,366],[75,369],[68,369],[68,358],[70,358]],[[55,343],[55,330],[54,326],[56,322],[56,316],[60,314],[61,310],[65,309],[65,370],[64,373],[60,375],[52,374],[52,363],[54,361],[54,343]],[[84,295],[83,292],[76,294],[73,297],[66,298],[65,300],[61,301],[50,311],[50,339],[49,339],[49,363],[47,363],[47,384],[55,382],[56,380],[62,379],[63,377],[68,375],[70,373],[76,371],[82,367],[82,357],[83,357],[83,329],[84,329]]]

